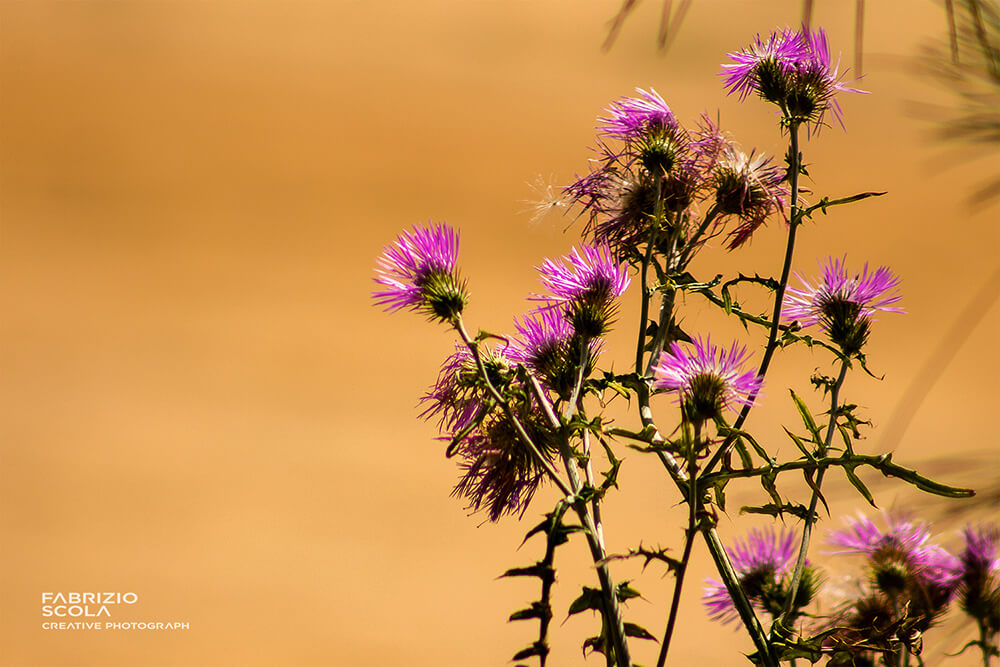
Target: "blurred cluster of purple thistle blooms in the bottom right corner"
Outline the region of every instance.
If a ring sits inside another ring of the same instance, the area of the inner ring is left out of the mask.
[[[976,645],[996,651],[1000,635],[1000,530],[996,525],[965,528],[958,556],[932,541],[930,527],[898,514],[884,517],[880,528],[859,515],[843,530],[828,532],[830,554],[860,555],[864,576],[856,593],[817,617],[817,631],[828,646],[852,647],[849,664],[874,665],[878,653],[898,651],[900,643],[915,654],[923,634],[942,620],[952,602],[978,626]],[[740,584],[754,605],[777,620],[789,595],[798,535],[792,530],[752,531],[746,541],[727,549]],[[818,597],[823,576],[809,563],[796,593],[794,621]],[[725,586],[708,580],[703,601],[709,615],[723,623],[738,620]],[[859,656],[857,653],[862,653]],[[867,660],[865,662],[864,660]],[[839,664],[839,663],[830,663]]]

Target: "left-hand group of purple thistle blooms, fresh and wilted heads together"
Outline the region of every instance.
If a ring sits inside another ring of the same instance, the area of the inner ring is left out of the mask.
[[[579,392],[630,280],[607,247],[582,245],[562,261],[546,259],[538,270],[549,293],[530,297],[541,305],[515,320],[517,334],[498,337],[492,348],[470,345],[461,319],[468,289],[458,274],[457,250],[458,234],[447,225],[404,232],[379,258],[376,282],[385,289],[375,298],[389,310],[423,312],[463,334],[466,344],[456,344],[421,399],[421,416],[438,419],[451,442],[449,456],[460,458],[455,492],[496,521],[523,513],[542,482],[544,463],[554,459],[558,444],[540,401],[558,405]],[[540,381],[541,394],[532,392],[520,369]]]

